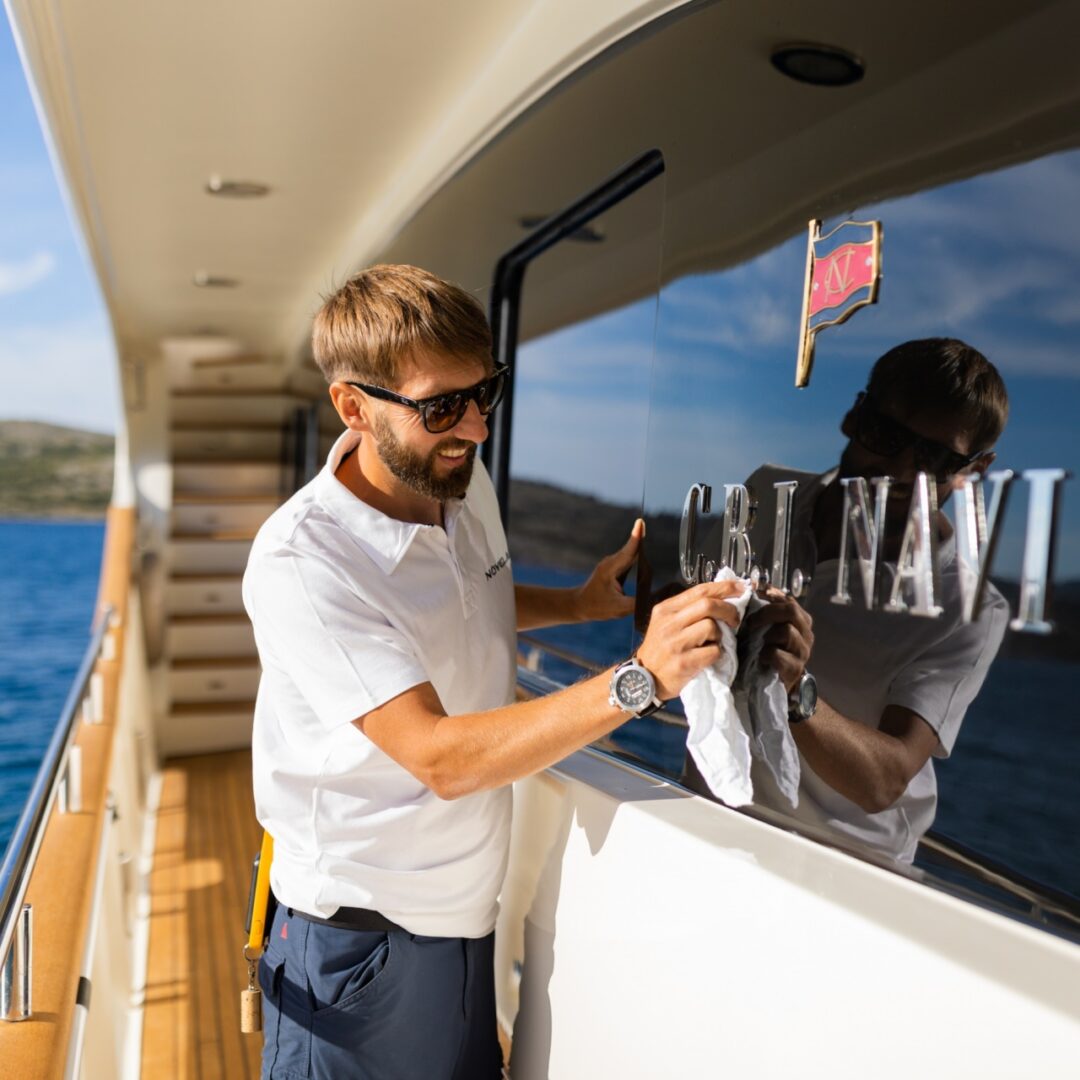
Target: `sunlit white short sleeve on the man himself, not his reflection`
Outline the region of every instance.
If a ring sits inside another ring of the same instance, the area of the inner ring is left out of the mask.
[[[318,557],[260,555],[244,605],[264,669],[288,678],[328,729],[428,681],[407,637]]]

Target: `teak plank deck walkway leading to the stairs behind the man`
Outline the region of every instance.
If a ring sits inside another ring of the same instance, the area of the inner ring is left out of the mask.
[[[261,839],[248,751],[162,770],[143,1022],[147,1080],[255,1080],[262,1039],[240,1032],[252,860]]]

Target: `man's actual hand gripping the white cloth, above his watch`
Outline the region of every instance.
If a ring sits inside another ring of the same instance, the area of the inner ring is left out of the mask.
[[[706,581],[652,609],[637,659],[651,672],[661,701],[677,698],[698,672],[723,654],[717,620],[732,630],[739,613],[728,603],[746,589],[742,581]]]

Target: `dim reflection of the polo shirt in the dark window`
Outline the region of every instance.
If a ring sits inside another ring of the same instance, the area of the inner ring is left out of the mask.
[[[771,559],[775,513],[774,481],[797,480],[792,518],[789,566],[812,573],[801,604],[813,618],[813,653],[809,670],[822,700],[868,727],[877,728],[889,705],[903,705],[922,717],[937,735],[933,757],[953,752],[968,706],[975,699],[997,656],[1009,622],[1009,605],[991,584],[982,612],[973,622],[961,618],[960,580],[954,539],[939,548],[941,597],[937,619],[888,611],[867,611],[856,583],[851,606],[832,603],[839,559],[816,562],[811,529],[813,507],[838,470],[814,475],[778,465],[762,465],[747,481],[758,499],[758,517],[751,530],[758,558]],[[885,564],[891,584],[895,564]],[[768,770],[753,770],[755,801],[865,843],[882,854],[910,862],[919,838],[933,824],[937,779],[928,760],[904,794],[887,810],[867,813],[840,795],[801,758],[799,805],[795,810],[780,795]]]

